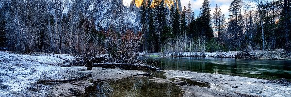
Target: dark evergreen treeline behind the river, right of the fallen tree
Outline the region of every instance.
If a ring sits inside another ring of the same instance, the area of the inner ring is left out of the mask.
[[[149,34],[144,49],[149,52],[290,50],[290,0],[233,0],[228,18],[217,5],[210,15],[209,0],[203,1],[196,18],[190,2],[182,12],[161,5],[151,8],[149,3],[144,1],[140,12],[143,32]],[[164,23],[161,15],[170,17],[170,23],[151,25]]]

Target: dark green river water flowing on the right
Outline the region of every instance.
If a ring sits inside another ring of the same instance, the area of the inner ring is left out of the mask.
[[[147,63],[168,70],[226,74],[267,80],[291,81],[291,60],[240,60],[231,58],[148,58]]]

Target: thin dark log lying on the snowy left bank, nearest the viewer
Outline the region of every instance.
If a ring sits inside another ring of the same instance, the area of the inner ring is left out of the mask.
[[[46,82],[70,82],[70,81],[79,81],[82,79],[87,79],[91,77],[91,74],[79,77],[79,78],[72,78],[72,79],[61,79],[61,80],[38,80],[39,83],[46,83]]]

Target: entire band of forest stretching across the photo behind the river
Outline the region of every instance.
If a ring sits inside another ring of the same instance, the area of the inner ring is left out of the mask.
[[[0,47],[93,54],[131,47],[164,53],[291,50],[291,0],[233,0],[229,16],[217,5],[211,15],[209,0],[203,1],[200,13],[192,11],[190,2],[180,11],[168,8],[164,0],[154,1],[158,4],[151,7],[151,0],[143,0],[137,11],[139,31],[134,31],[114,25],[97,30],[98,0],[72,0],[65,14],[67,3],[61,0],[0,0]],[[118,11],[124,10],[112,13]]]

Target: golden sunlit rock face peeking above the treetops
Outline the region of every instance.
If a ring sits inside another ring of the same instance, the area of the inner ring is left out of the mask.
[[[130,3],[130,6],[134,6],[135,5],[136,7],[141,7],[143,1],[144,0],[132,0],[131,3]],[[162,0],[159,0],[159,2],[161,2],[161,1]],[[147,0],[146,0],[146,2],[147,2]],[[175,6],[175,7],[178,8],[179,11],[182,10],[180,0],[165,0],[165,4],[167,5],[167,7],[169,9],[171,8],[171,6]],[[153,0],[150,6],[153,8],[156,5],[157,5],[157,1]]]

